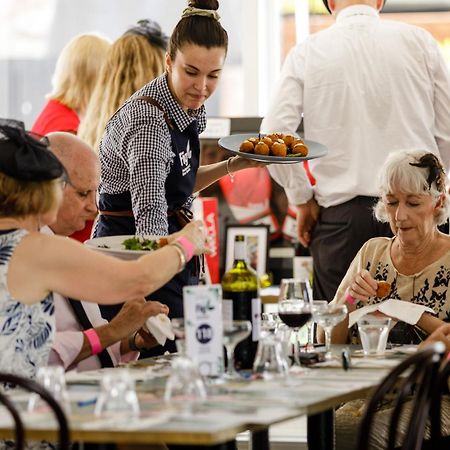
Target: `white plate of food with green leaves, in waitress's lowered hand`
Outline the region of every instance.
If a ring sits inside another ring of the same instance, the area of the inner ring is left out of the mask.
[[[121,259],[137,259],[148,252],[158,250],[167,245],[167,239],[161,236],[104,236],[88,239],[84,244]]]

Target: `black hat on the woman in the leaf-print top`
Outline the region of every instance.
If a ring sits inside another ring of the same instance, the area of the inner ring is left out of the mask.
[[[22,181],[54,180],[66,173],[47,143],[13,119],[0,119],[0,171]]]

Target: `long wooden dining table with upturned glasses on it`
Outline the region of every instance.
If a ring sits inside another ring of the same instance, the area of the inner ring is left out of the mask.
[[[249,431],[250,448],[266,450],[270,448],[271,426],[307,416],[308,449],[333,449],[335,409],[347,401],[366,397],[415,348],[401,350],[395,348],[387,350],[383,357],[365,358],[361,350],[352,349],[351,363],[343,364],[342,346],[333,346],[332,360],[309,368],[293,367],[286,377],[207,381],[208,395],[201,401],[164,400],[165,381],[176,356],[139,360],[126,368],[135,381],[140,404],[139,415],[133,417],[105,418],[94,414],[102,377],[107,371],[120,368],[68,372],[70,437],[73,442],[85,443],[232,448],[236,436]],[[27,412],[29,394],[17,391],[10,395],[22,405],[27,439],[57,439],[56,421],[50,412]],[[14,423],[0,408],[0,438],[13,435]]]

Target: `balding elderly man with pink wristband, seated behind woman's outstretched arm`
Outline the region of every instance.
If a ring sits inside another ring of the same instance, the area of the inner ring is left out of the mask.
[[[99,162],[92,149],[73,134],[51,133],[47,137],[51,150],[66,168],[69,181],[56,222],[42,231],[68,236],[83,229],[86,220],[96,212]],[[152,336],[140,330],[145,320],[150,315],[168,312],[167,306],[158,302],[152,302],[154,308],[150,311],[144,310],[145,300],[136,299],[126,302],[108,323],[102,319],[96,303],[70,301],[58,294],[54,299],[57,333],[49,364],[63,365],[67,370],[112,367],[136,359],[140,348],[156,344]],[[104,349],[96,355],[83,333],[90,329],[95,330]]]

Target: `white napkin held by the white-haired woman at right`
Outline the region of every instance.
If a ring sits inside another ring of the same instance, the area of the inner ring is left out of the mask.
[[[362,316],[375,311],[380,311],[387,316],[409,323],[410,325],[415,325],[424,312],[434,314],[434,311],[427,306],[389,298],[384,302],[363,306],[362,308],[351,312],[348,320],[348,327],[352,327]]]

